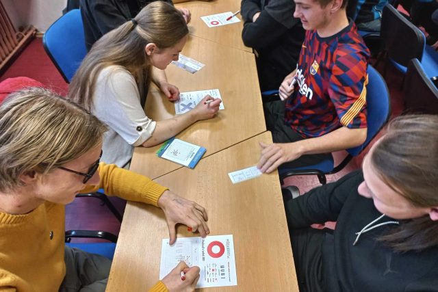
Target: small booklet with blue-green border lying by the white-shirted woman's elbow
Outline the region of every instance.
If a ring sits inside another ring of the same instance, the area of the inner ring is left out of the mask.
[[[196,163],[203,157],[205,150],[204,147],[173,137],[159,148],[157,156],[187,166],[188,168],[194,168]]]

